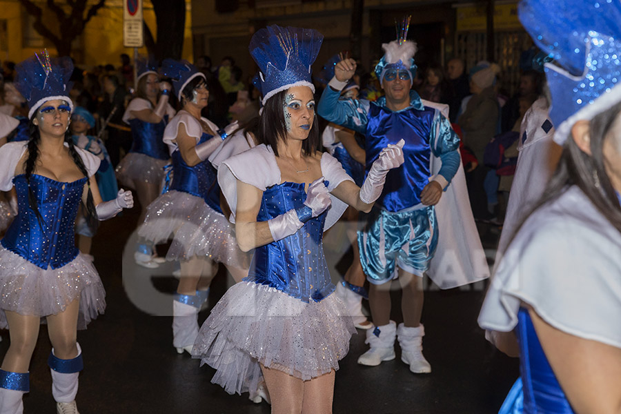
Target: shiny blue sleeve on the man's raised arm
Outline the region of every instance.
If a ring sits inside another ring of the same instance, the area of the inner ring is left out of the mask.
[[[326,86],[322,99],[319,99],[317,104],[317,114],[326,121],[364,134],[368,122],[369,102],[365,99],[341,100],[340,97],[340,90]]]

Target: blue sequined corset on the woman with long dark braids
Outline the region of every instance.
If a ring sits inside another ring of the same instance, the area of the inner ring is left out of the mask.
[[[63,183],[41,175],[30,176],[41,221],[28,206],[28,183],[21,174],[13,179],[19,214],[6,230],[2,246],[40,268],[57,269],[77,257],[75,217],[86,177]]]

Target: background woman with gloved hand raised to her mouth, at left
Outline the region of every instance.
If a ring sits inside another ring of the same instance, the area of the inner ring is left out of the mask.
[[[138,222],[146,216],[146,208],[157,198],[164,179],[164,167],[170,154],[164,144],[164,128],[175,115],[168,103],[172,86],[159,82],[159,76],[152,63],[137,60],[138,89],[135,98],[128,104],[123,121],[132,128],[132,148],[117,166],[117,177],[124,186],[136,190],[141,206]],[[156,268],[164,259],[156,257],[152,244],[140,241],[134,253],[136,263]]]

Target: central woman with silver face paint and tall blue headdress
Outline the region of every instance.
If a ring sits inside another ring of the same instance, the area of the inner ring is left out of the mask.
[[[201,327],[193,355],[217,369],[228,393],[264,377],[273,413],[329,413],[335,370],[355,331],[332,284],[322,233],[347,204],[368,211],[386,172],[402,162],[400,145],[375,163],[362,189],[319,135],[311,64],[322,35],[270,26],[250,41],[264,81],[259,146],[232,157],[218,181],[242,250],[255,249],[248,277],[228,289]]]

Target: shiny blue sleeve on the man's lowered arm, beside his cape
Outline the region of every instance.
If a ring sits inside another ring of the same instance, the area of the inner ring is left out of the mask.
[[[433,118],[430,141],[433,155],[442,160],[442,167],[440,167],[438,175],[442,175],[450,183],[457,173],[457,168],[460,167],[460,162],[462,162],[458,151],[460,137],[457,136],[451,128],[449,120],[440,111],[437,111]]]

